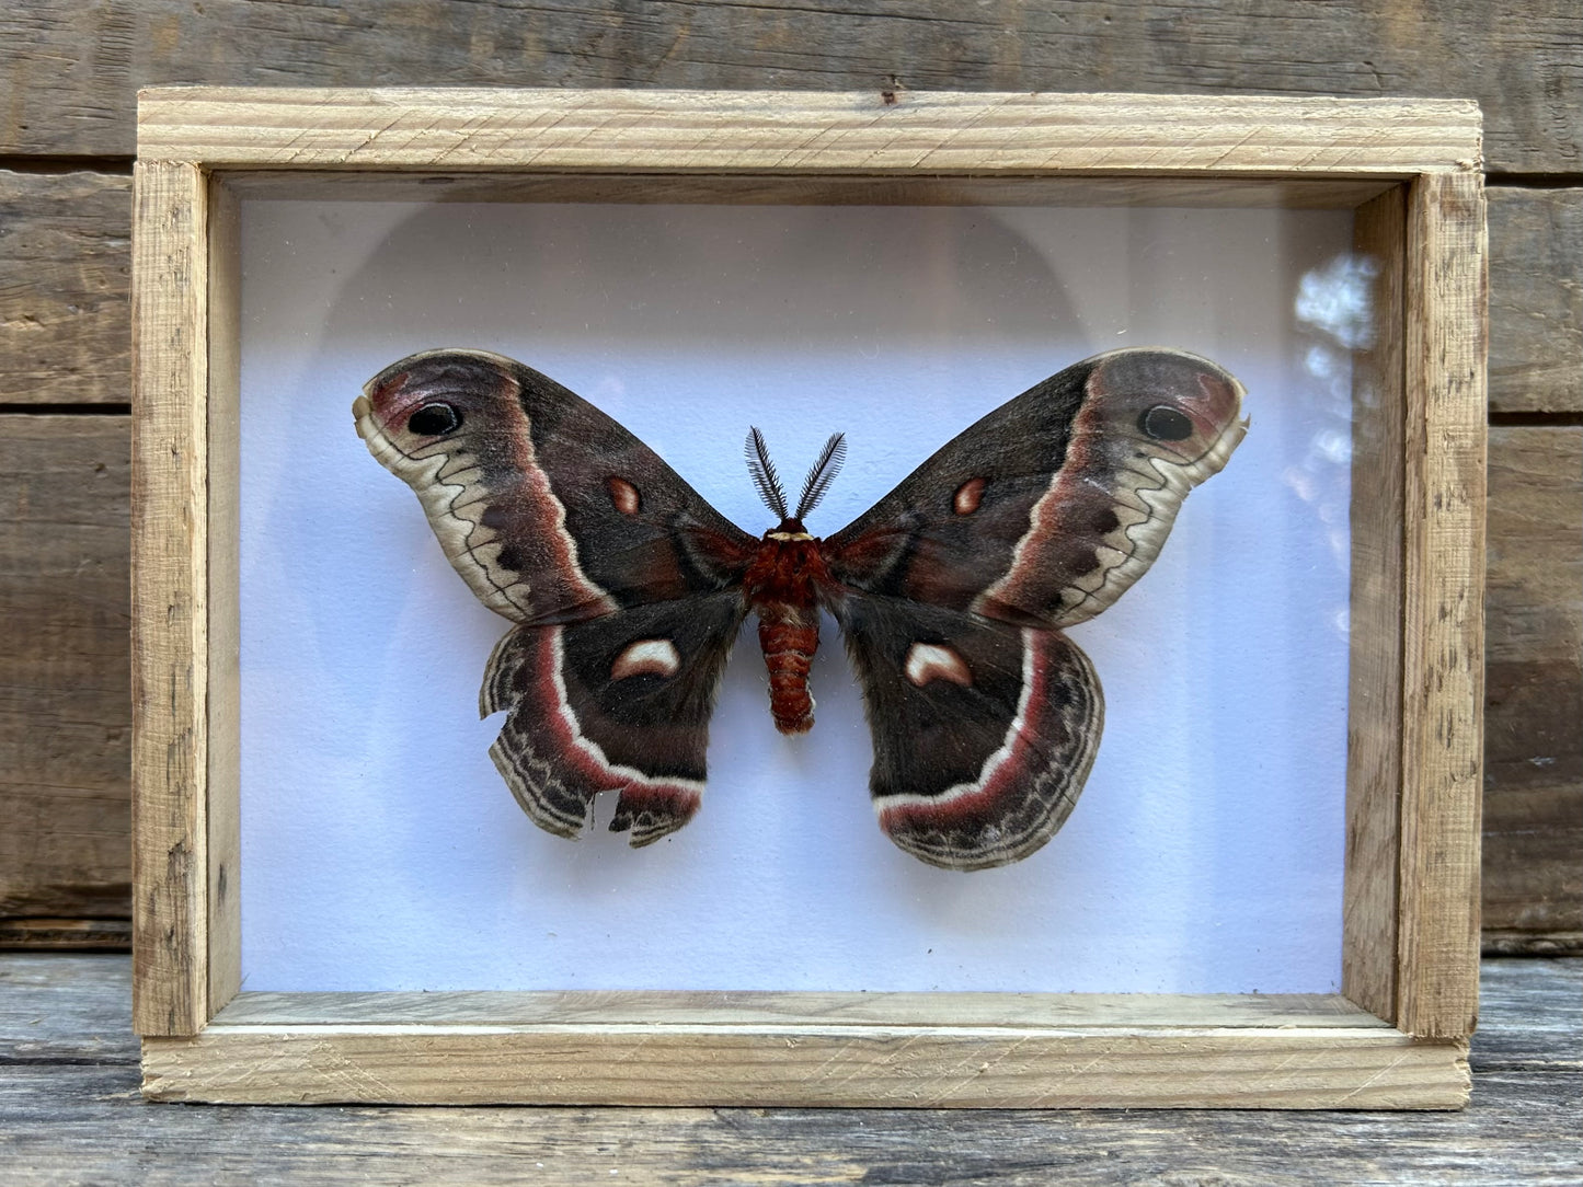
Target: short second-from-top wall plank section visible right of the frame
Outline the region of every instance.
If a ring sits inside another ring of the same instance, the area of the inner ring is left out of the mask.
[[[1490,410],[1583,411],[1583,188],[1490,190]]]

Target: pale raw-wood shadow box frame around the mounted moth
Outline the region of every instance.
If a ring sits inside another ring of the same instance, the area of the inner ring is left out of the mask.
[[[158,89],[135,184],[135,1021],[157,1100],[1453,1108],[1479,967],[1485,207],[1441,100]],[[239,196],[1353,210],[1336,995],[239,992]]]

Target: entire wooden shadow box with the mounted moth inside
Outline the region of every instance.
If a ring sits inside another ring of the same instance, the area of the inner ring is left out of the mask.
[[[1463,1098],[1469,104],[141,119],[150,1097]]]

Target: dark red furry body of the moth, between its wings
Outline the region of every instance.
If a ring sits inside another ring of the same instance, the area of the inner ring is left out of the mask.
[[[814,726],[807,669],[818,650],[818,587],[829,581],[818,541],[782,525],[758,544],[742,581],[742,597],[758,616],[758,646],[769,669],[769,712],[784,734]],[[795,535],[799,538],[774,537]]]

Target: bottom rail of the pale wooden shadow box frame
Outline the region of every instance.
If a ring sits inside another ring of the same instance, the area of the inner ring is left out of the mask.
[[[1330,1041],[1327,1041],[1330,1040]],[[416,1068],[421,1067],[421,1071]],[[211,1102],[1447,1108],[1461,1048],[1341,997],[242,994],[149,1040]]]

